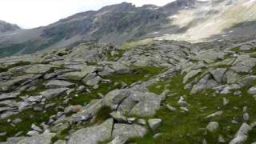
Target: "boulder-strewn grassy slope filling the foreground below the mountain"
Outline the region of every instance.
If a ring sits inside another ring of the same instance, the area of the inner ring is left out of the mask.
[[[143,40],[0,59],[2,143],[253,143],[256,41]]]

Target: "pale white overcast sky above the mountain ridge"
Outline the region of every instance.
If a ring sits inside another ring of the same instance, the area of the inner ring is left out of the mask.
[[[124,1],[136,6],[163,6],[174,0],[1,0],[0,20],[18,24],[22,28],[33,28],[46,26],[78,12],[98,10],[102,6]]]

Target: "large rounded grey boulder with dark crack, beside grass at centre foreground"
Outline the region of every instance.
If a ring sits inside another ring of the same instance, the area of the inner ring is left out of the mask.
[[[160,108],[162,98],[149,92],[132,89],[113,90],[103,98],[106,106],[118,110],[121,114],[154,115]]]

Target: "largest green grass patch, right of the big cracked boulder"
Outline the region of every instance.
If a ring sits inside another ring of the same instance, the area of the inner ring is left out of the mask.
[[[170,85],[170,86],[168,86]],[[161,86],[160,88],[157,88]],[[248,113],[251,115],[250,122],[256,121],[256,106],[255,99],[247,94],[246,90],[250,86],[242,88],[242,97],[234,96],[234,94],[214,95],[211,90],[205,90],[199,94],[190,94],[190,90],[184,90],[182,84],[182,75],[168,78],[162,82],[155,83],[149,86],[149,90],[161,94],[164,89],[170,90],[172,96],[166,98],[164,105],[169,104],[177,108],[176,111],[170,111],[166,106],[163,106],[153,118],[162,118],[162,126],[156,131],[151,131],[144,138],[132,138],[130,142],[137,142],[138,144],[150,143],[201,143],[203,138],[209,143],[218,143],[218,136],[222,135],[226,142],[234,137],[239,127],[243,123],[242,107],[248,107]],[[180,96],[185,97],[186,102],[190,104],[188,112],[182,112],[178,109],[178,99]],[[222,98],[230,100],[229,104],[223,106]],[[205,118],[207,115],[213,114],[218,110],[224,113],[221,116],[214,118]],[[236,124],[231,123],[235,120]],[[204,128],[209,122],[218,122],[219,129],[215,133],[206,132]],[[161,133],[158,138],[154,138],[154,134]],[[250,131],[249,139],[246,143],[256,141],[256,131]]]

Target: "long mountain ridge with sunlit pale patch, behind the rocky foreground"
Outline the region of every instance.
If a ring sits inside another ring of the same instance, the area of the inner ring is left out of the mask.
[[[122,2],[74,14],[49,26],[0,35],[0,56],[92,41],[121,45],[145,38],[190,42],[253,38],[255,4],[254,0],[177,0],[166,6],[136,7]]]

